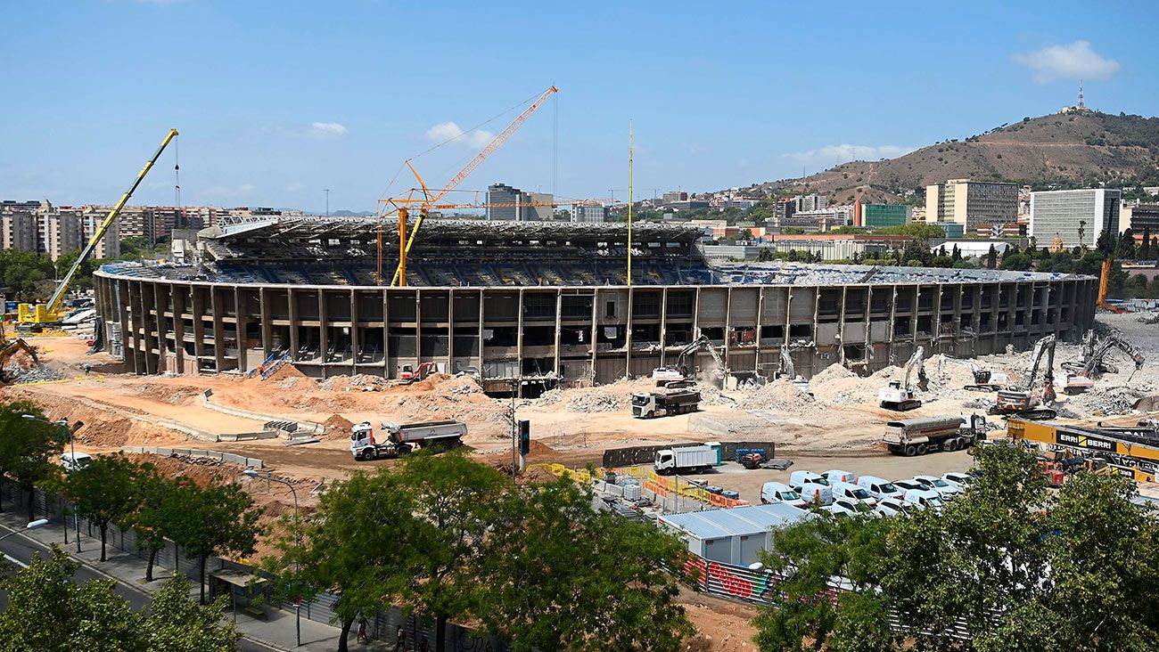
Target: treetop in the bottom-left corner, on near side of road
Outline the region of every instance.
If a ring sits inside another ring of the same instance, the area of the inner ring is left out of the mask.
[[[0,651],[152,652],[111,579],[72,581],[79,564],[53,544],[27,569],[0,576],[8,605],[0,611]]]

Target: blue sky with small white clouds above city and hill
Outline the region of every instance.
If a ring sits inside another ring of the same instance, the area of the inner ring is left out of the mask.
[[[373,210],[402,161],[560,88],[461,188],[715,190],[1074,102],[1153,115],[1137,2],[12,2],[0,198],[111,203],[169,126],[184,204]],[[557,112],[557,166],[553,166]],[[484,125],[498,132],[513,118]],[[484,135],[415,161],[445,182]],[[553,174],[554,173],[554,174]],[[173,203],[169,152],[134,203]],[[411,185],[404,176],[395,189]],[[468,197],[461,197],[467,199]]]

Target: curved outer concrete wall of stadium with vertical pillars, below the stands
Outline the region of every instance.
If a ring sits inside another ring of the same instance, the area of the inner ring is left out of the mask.
[[[930,354],[1076,340],[1094,322],[1098,279],[837,286],[385,288],[226,285],[96,273],[105,349],[139,374],[245,373],[292,352],[326,378],[396,378],[431,361],[547,386],[611,382],[673,364],[708,336],[735,371],[779,368],[786,337],[806,378],[834,362],[876,371]],[[694,364],[707,371],[708,353]]]

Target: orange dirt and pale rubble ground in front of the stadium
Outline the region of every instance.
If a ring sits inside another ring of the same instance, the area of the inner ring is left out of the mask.
[[[1060,420],[1092,423],[1098,419],[1131,423],[1142,410],[1159,409],[1159,325],[1139,322],[1138,315],[1099,315],[1100,329],[1114,329],[1135,344],[1149,359],[1139,372],[1122,354],[1114,357],[1118,373],[1106,374],[1091,391],[1066,396],[1060,387],[1065,372],[1060,362],[1077,360],[1078,344],[1059,344],[1055,373],[1059,386]],[[458,419],[467,424],[465,439],[481,460],[502,466],[510,462],[510,398],[491,398],[469,376],[435,374],[410,386],[376,376],[336,376],[315,380],[285,366],[267,380],[240,374],[143,376],[129,374],[103,353],[88,354],[88,347],[73,335],[32,336],[43,369],[23,378],[60,379],[0,389],[6,400],[28,400],[41,405],[50,418],[82,420],[76,432],[79,450],[99,453],[126,445],[224,450],[263,460],[265,470],[285,477],[299,488],[305,508],[316,504],[316,489],[345,477],[356,469],[391,464],[391,461],[356,462],[349,450],[349,427],[353,423],[382,420],[401,423]],[[532,424],[532,452],[529,462],[556,462],[568,467],[598,466],[610,448],[699,441],[774,441],[777,456],[794,461],[789,471],[749,471],[726,464],[705,474],[709,484],[741,492],[743,499],[759,503],[760,485],[783,481],[792,470],[824,471],[843,469],[858,475],[885,478],[916,474],[940,475],[969,467],[965,453],[936,453],[919,457],[889,455],[880,444],[884,424],[897,418],[920,416],[984,413],[994,395],[968,391],[974,382],[967,365],[936,354],[926,360],[927,391],[919,393],[923,405],[909,412],[885,410],[877,404],[877,391],[904,371],[890,367],[866,378],[834,365],[814,376],[812,396],[787,381],[760,388],[722,394],[701,384],[701,410],[691,415],[635,419],[629,412],[632,391],[654,390],[650,379],[624,380],[596,388],[553,390],[535,400],[513,402],[516,416]],[[1006,372],[1012,380],[1022,375],[1029,353],[987,356],[976,360],[983,368]],[[21,362],[30,367],[30,362]],[[86,373],[86,366],[90,369]],[[6,368],[7,371],[7,368]],[[10,375],[10,374],[9,374]],[[205,398],[205,390],[211,397]],[[226,413],[221,410],[245,410]],[[249,416],[246,416],[249,415]],[[326,432],[315,444],[287,446],[283,439],[212,441],[187,433],[229,435],[261,431],[267,420],[298,420],[323,424]],[[998,417],[990,417],[992,435],[1004,434]],[[152,456],[156,457],[156,456]],[[238,477],[241,468],[223,462],[165,462],[168,472]],[[258,503],[275,515],[289,508],[284,488],[261,486]],[[262,550],[258,551],[258,556]],[[690,605],[706,605],[702,596]],[[746,637],[729,632],[748,628],[739,616],[729,620],[721,609],[690,609],[713,639],[705,650],[742,650]],[[727,611],[727,610],[724,610]],[[748,616],[751,616],[748,610]],[[722,620],[723,618],[723,620]],[[715,624],[713,624],[715,623]],[[719,627],[717,627],[719,625]],[[731,644],[722,642],[728,638]],[[746,643],[751,649],[751,640]]]

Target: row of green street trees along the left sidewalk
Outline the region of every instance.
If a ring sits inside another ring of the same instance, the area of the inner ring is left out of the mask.
[[[148,552],[147,581],[153,580],[156,554],[172,542],[197,559],[204,602],[209,557],[254,549],[261,514],[239,484],[168,477],[122,454],[99,455],[85,468],[63,472],[57,459],[70,433],[45,423],[39,408],[27,401],[0,404],[0,478],[28,495],[29,520],[37,488],[61,497],[100,530],[102,562],[110,525],[133,530],[137,547]]]

